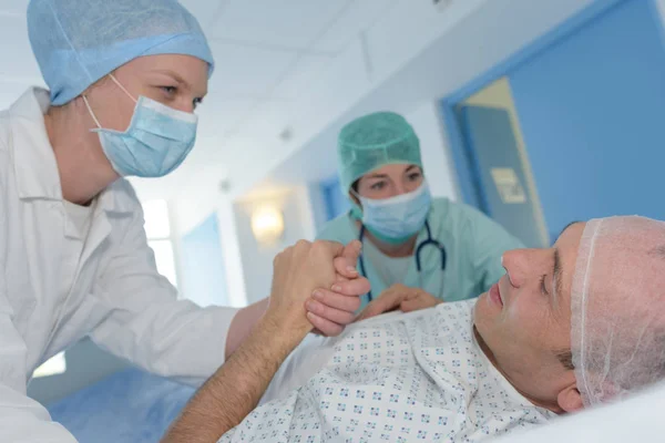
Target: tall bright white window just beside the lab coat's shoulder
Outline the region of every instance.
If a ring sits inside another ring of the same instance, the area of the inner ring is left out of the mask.
[[[175,253],[171,223],[168,220],[168,205],[165,200],[149,200],[142,204],[145,218],[145,234],[147,245],[155,253],[157,270],[166,277],[173,286],[177,287],[175,270]]]

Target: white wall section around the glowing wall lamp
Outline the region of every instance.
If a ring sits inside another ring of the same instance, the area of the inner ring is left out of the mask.
[[[252,233],[252,214],[265,205],[280,209],[284,215],[284,235],[270,246],[259,245]],[[314,238],[315,225],[309,192],[307,186],[298,186],[270,195],[241,199],[233,206],[247,301],[253,303],[270,292],[275,256],[300,239]]]

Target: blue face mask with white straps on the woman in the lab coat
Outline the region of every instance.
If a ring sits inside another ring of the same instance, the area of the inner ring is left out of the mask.
[[[102,128],[83,96],[104,154],[121,176],[162,177],[178,167],[196,141],[198,117],[141,95],[136,101],[113,75],[111,79],[136,105],[126,131]]]

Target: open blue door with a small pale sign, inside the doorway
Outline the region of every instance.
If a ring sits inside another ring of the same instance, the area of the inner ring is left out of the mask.
[[[462,106],[462,131],[474,192],[483,210],[529,247],[543,247],[535,197],[526,186],[518,143],[508,111]]]

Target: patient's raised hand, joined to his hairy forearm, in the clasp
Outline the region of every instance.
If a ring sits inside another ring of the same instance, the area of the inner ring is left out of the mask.
[[[346,269],[346,265],[352,257],[357,258],[359,251],[356,250],[357,246],[347,248],[334,241],[300,240],[278,254],[274,261],[273,289],[266,318],[283,324],[285,332],[301,339],[315,327],[311,322],[314,317],[306,312],[305,303],[316,289],[330,288],[337,295],[358,291],[362,279],[357,276],[349,278],[350,270]],[[344,274],[338,274],[338,268]]]

